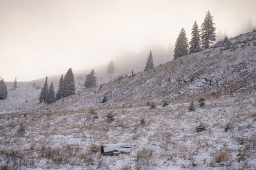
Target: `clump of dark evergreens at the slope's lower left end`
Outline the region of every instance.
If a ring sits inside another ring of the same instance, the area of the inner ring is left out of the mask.
[[[63,78],[63,75],[61,75],[56,96],[55,96],[53,83],[51,82],[50,87],[48,87],[47,81],[48,81],[48,77],[46,76],[44,87],[42,88],[39,96],[40,102],[53,103],[54,101],[61,99],[62,97],[67,97],[72,94],[75,94],[76,86],[75,86],[74,74],[71,68],[68,69],[64,78]]]

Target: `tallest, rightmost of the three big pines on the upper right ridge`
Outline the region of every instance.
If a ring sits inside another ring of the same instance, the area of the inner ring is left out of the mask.
[[[212,44],[212,41],[216,40],[214,22],[212,21],[212,15],[207,11],[204,18],[204,22],[201,25],[201,41],[202,48],[209,48],[209,45]]]

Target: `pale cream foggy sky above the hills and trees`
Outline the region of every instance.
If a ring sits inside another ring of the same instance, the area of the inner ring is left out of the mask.
[[[170,51],[171,60],[181,27],[190,39],[207,10],[220,39],[252,31],[255,6],[255,0],[0,0],[0,76],[28,81],[112,59],[125,63],[129,53],[140,57],[151,49],[154,55],[154,45]]]

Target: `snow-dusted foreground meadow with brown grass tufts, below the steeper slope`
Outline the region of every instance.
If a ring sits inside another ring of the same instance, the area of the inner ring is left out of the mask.
[[[256,103],[250,93],[195,102],[1,115],[1,166],[42,169],[253,169]],[[115,120],[108,122],[108,113]],[[95,115],[99,118],[95,118]],[[141,124],[145,118],[145,125]],[[196,132],[196,126],[205,131]],[[25,133],[17,131],[24,125]],[[230,129],[225,132],[225,127]],[[102,156],[100,145],[126,143],[130,154]]]

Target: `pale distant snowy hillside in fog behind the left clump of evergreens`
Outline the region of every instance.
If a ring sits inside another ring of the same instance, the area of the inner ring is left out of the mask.
[[[97,83],[108,83],[109,81],[115,80],[117,76],[117,73],[111,76],[99,76]],[[85,77],[86,73],[75,74],[76,92],[80,92],[81,89],[84,89],[83,84]],[[28,111],[47,106],[47,104],[38,102],[38,97],[41,92],[41,88],[44,85],[44,81],[45,78],[28,82],[18,82],[17,89],[13,88],[13,83],[6,82],[8,97],[5,100],[0,100],[0,114]],[[58,90],[60,75],[49,76],[48,83],[50,84],[51,81],[54,83],[54,89],[56,92]]]

